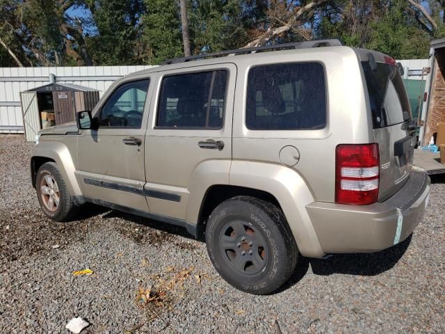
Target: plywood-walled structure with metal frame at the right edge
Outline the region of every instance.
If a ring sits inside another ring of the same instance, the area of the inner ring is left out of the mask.
[[[445,38],[431,42],[428,61],[430,72],[426,78],[419,133],[421,145],[428,145],[431,137],[436,142],[438,124],[445,122]]]

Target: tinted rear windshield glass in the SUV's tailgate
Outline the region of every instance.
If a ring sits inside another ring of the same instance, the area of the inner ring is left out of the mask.
[[[364,76],[373,116],[373,128],[389,127],[411,118],[401,74],[396,66],[377,63],[373,71],[369,62],[363,62]]]

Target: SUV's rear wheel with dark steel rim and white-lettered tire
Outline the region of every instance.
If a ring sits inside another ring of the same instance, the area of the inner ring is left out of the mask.
[[[265,200],[238,196],[220,203],[209,217],[205,238],[220,276],[250,294],[275,291],[296,267],[298,248],[286,218]]]

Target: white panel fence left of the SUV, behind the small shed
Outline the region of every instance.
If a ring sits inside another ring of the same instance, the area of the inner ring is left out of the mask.
[[[49,84],[49,74],[55,74],[60,84],[97,89],[102,97],[115,80],[151,67],[0,67],[0,133],[23,133],[20,92]]]

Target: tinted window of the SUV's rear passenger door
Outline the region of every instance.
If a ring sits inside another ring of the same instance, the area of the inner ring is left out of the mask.
[[[223,127],[227,71],[179,74],[161,85],[156,127]]]

